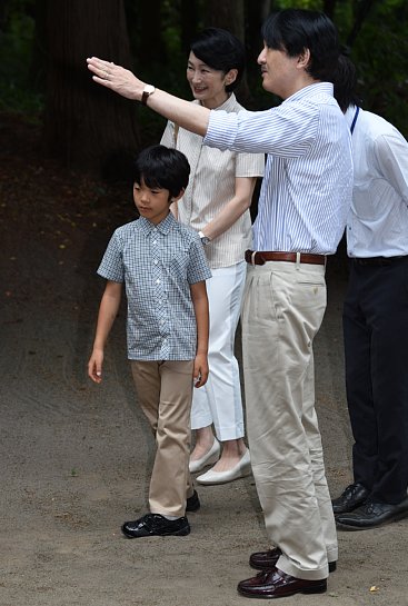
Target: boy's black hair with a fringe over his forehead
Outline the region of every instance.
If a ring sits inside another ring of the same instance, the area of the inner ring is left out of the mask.
[[[188,186],[190,165],[181,151],[165,146],[143,149],[136,159],[133,182],[147,187],[168,189],[170,197],[178,196]]]

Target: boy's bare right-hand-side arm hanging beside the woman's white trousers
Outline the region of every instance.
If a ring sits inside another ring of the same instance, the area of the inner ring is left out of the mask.
[[[190,292],[197,322],[197,352],[192,377],[195,386],[201,387],[208,379],[209,315],[206,282],[202,280],[190,285]]]

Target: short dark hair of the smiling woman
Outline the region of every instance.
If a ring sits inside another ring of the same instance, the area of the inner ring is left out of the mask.
[[[231,92],[237,88],[245,70],[245,48],[238,38],[220,28],[207,28],[192,40],[190,50],[209,68],[223,73],[230,69],[238,70],[236,80],[226,90]]]

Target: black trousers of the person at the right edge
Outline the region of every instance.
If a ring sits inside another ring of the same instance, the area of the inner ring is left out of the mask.
[[[355,481],[397,504],[408,486],[408,257],[351,261],[344,336]]]

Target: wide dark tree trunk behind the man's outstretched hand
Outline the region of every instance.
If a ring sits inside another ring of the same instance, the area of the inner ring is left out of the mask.
[[[46,28],[47,150],[68,165],[121,178],[139,141],[135,103],[96,85],[86,59],[97,56],[130,68],[122,0],[48,0]]]

